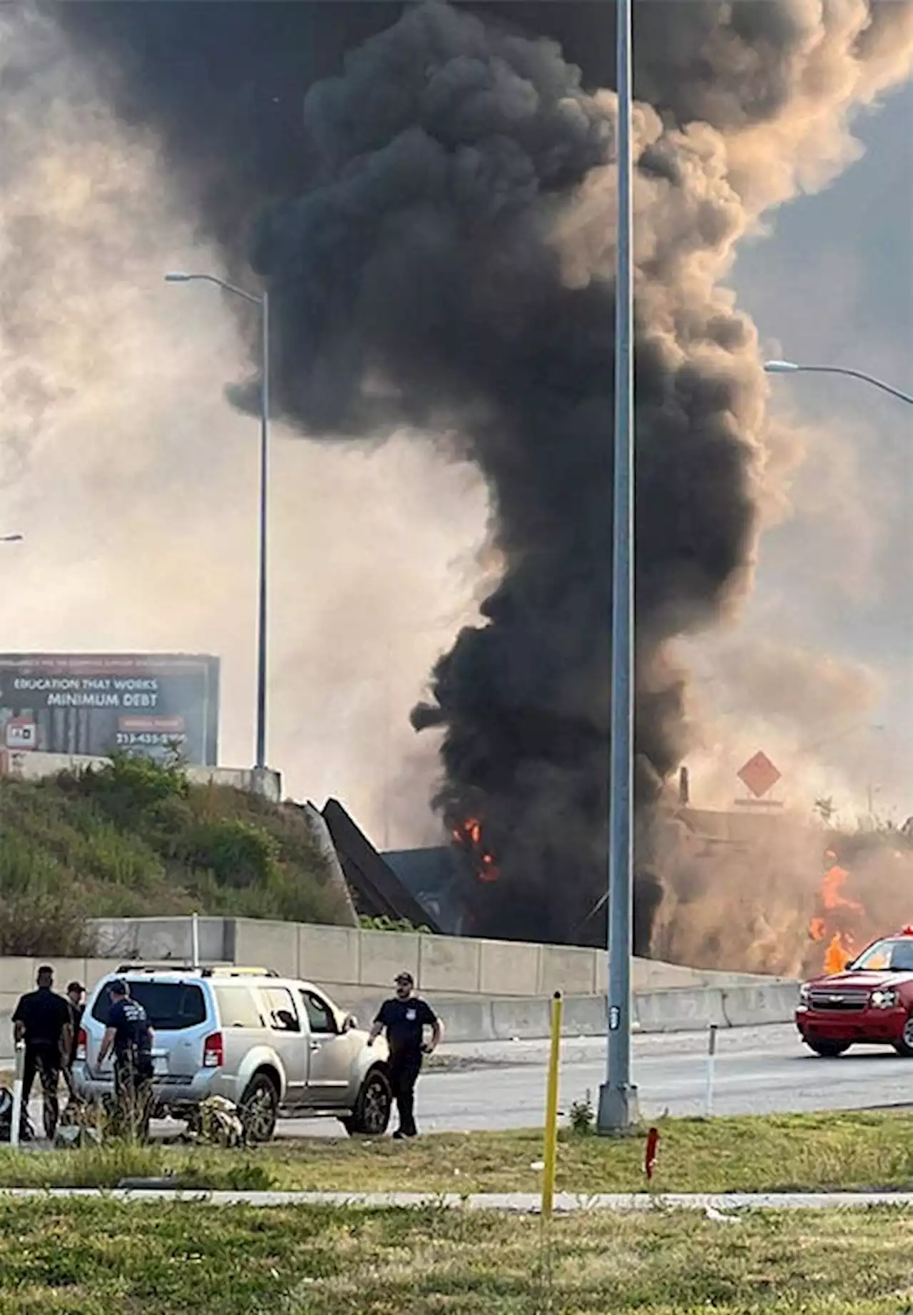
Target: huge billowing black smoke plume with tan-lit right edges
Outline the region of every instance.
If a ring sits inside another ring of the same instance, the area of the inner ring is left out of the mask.
[[[599,936],[615,100],[595,88],[612,9],[215,8],[60,21],[91,58],[114,53],[112,96],[155,122],[229,267],[263,209],[250,258],[282,413],[319,438],[411,425],[483,472],[503,577],[414,721],[444,731],[447,825],[478,819],[497,861],[478,930]],[[842,163],[847,109],[909,66],[910,5],[640,0],[635,41],[642,952],[654,810],[687,743],[670,643],[746,586],[763,480],[755,335],[719,280],[763,209]]]

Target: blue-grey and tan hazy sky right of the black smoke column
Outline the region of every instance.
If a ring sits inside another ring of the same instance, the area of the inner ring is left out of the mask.
[[[854,164],[742,246],[730,283],[768,359],[862,370],[913,393],[910,124],[906,85],[859,114]],[[745,793],[732,778],[736,746],[762,748],[784,771],[780,798],[833,797],[849,818],[871,786],[876,811],[904,821],[913,410],[851,379],[780,375],[770,376],[770,413],[799,429],[804,460],[782,480],[740,622],[696,646],[734,742],[712,797]],[[767,715],[750,715],[759,709]]]

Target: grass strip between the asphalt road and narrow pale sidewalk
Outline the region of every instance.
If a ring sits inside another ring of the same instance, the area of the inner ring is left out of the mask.
[[[841,1112],[666,1119],[653,1189],[799,1191],[913,1189],[913,1115]],[[125,1159],[127,1157],[127,1159]],[[209,1187],[326,1191],[532,1191],[539,1132],[427,1136],[415,1143],[348,1137],[276,1141],[246,1152],[118,1147],[22,1155],[0,1151],[0,1186],[114,1186],[122,1177],[175,1174]],[[644,1139],[562,1132],[558,1190],[637,1191]]]

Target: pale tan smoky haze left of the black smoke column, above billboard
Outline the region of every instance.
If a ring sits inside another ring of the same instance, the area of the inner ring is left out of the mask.
[[[3,646],[215,652],[222,760],[246,765],[257,430],[221,394],[246,352],[215,289],[162,277],[217,256],[53,26],[3,20],[0,72],[0,526],[26,535],[0,550]],[[428,834],[407,715],[474,614],[486,514],[473,472],[409,434],[275,431],[269,760],[393,843]]]

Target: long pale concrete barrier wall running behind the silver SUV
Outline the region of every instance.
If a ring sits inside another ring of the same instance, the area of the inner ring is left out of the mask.
[[[189,918],[114,918],[95,923],[100,959],[51,960],[59,990],[89,989],[120,963],[190,959]],[[568,1036],[606,1035],[606,955],[598,949],[460,936],[360,931],[244,918],[200,918],[204,963],[272,968],[317,982],[364,1024],[402,968],[440,1010],[453,1041],[548,1035],[549,997],[565,995]],[[34,986],[37,959],[0,959],[0,1059],[12,1055],[9,1015]],[[644,1032],[790,1022],[797,982],[704,972],[635,959],[633,1022]]]

